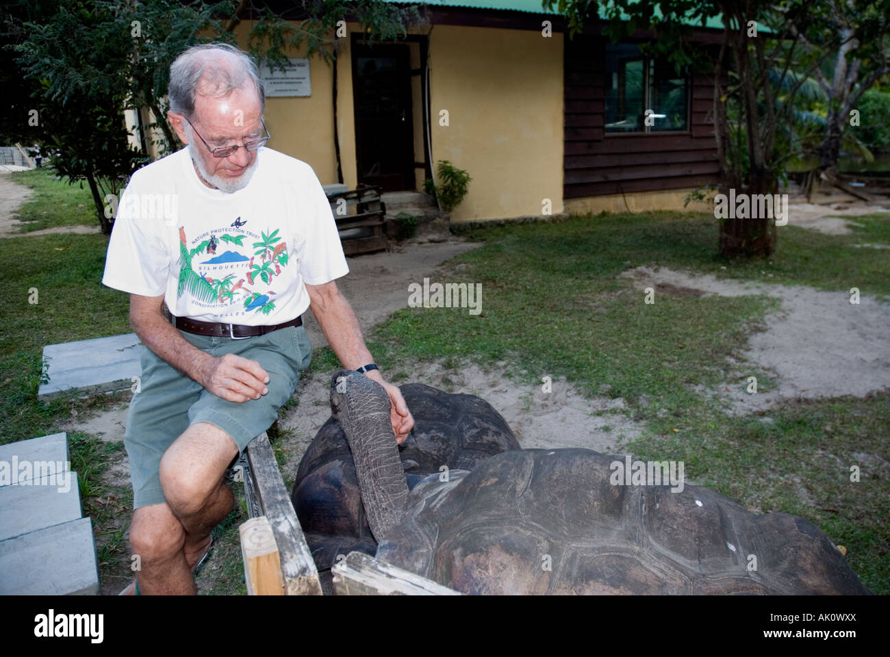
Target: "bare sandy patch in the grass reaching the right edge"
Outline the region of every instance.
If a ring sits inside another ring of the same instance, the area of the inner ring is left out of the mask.
[[[768,295],[781,299],[781,311],[767,316],[768,328],[751,336],[743,353],[745,361],[756,369],[775,375],[778,390],[748,393],[746,383],[705,391],[727,401],[733,412],[763,410],[798,397],[862,397],[890,385],[890,304],[874,297],[860,296],[859,304],[851,304],[846,292],[718,280],[711,275],[651,267],[636,267],[621,276],[639,289],[673,286],[697,289],[705,296]],[[747,378],[745,365],[740,362],[736,367],[740,376]]]

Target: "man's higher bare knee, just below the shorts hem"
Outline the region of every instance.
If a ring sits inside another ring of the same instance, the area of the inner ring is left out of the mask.
[[[158,475],[175,515],[199,513],[221,485],[226,466],[238,455],[229,434],[216,426],[192,425],[161,458]]]

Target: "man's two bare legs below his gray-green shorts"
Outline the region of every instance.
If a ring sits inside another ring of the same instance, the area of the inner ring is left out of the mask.
[[[223,475],[238,447],[218,426],[191,425],[161,459],[166,504],[134,512],[130,540],[141,556],[137,574],[146,595],[194,595],[192,570],[210,543],[210,532],[234,505]]]

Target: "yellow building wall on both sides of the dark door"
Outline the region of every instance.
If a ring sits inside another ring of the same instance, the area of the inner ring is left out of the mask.
[[[252,27],[244,20],[235,30],[242,48]],[[347,27],[359,30],[357,23]],[[542,215],[545,199],[553,214],[562,212],[562,34],[449,25],[428,31],[433,174],[438,161],[447,159],[473,177],[451,220]],[[344,183],[352,189],[358,178],[350,37],[340,42],[337,125]],[[411,66],[419,66],[419,47],[408,47]],[[308,162],[322,184],[336,183],[332,69],[313,56],[310,75],[312,96],[266,99],[269,146]],[[412,97],[415,161],[422,162],[419,80],[412,78]],[[448,126],[440,125],[440,110],[448,110]],[[416,169],[417,190],[424,177]]]

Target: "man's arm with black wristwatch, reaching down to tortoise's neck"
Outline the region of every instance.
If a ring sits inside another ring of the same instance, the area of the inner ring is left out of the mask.
[[[340,294],[333,280],[322,285],[306,284],[309,291],[312,314],[319,320],[322,332],[328,338],[328,345],[336,353],[346,369],[360,368],[362,365],[374,362],[373,356],[361,337],[359,320],[352,312],[352,306],[346,298]],[[379,370],[372,369],[366,375],[373,378],[378,384],[384,386],[384,390],[390,396],[392,410],[392,431],[396,436],[396,442],[401,445],[408,440],[409,431],[414,427],[414,418],[408,410],[408,404],[401,396],[399,388],[384,381]]]

